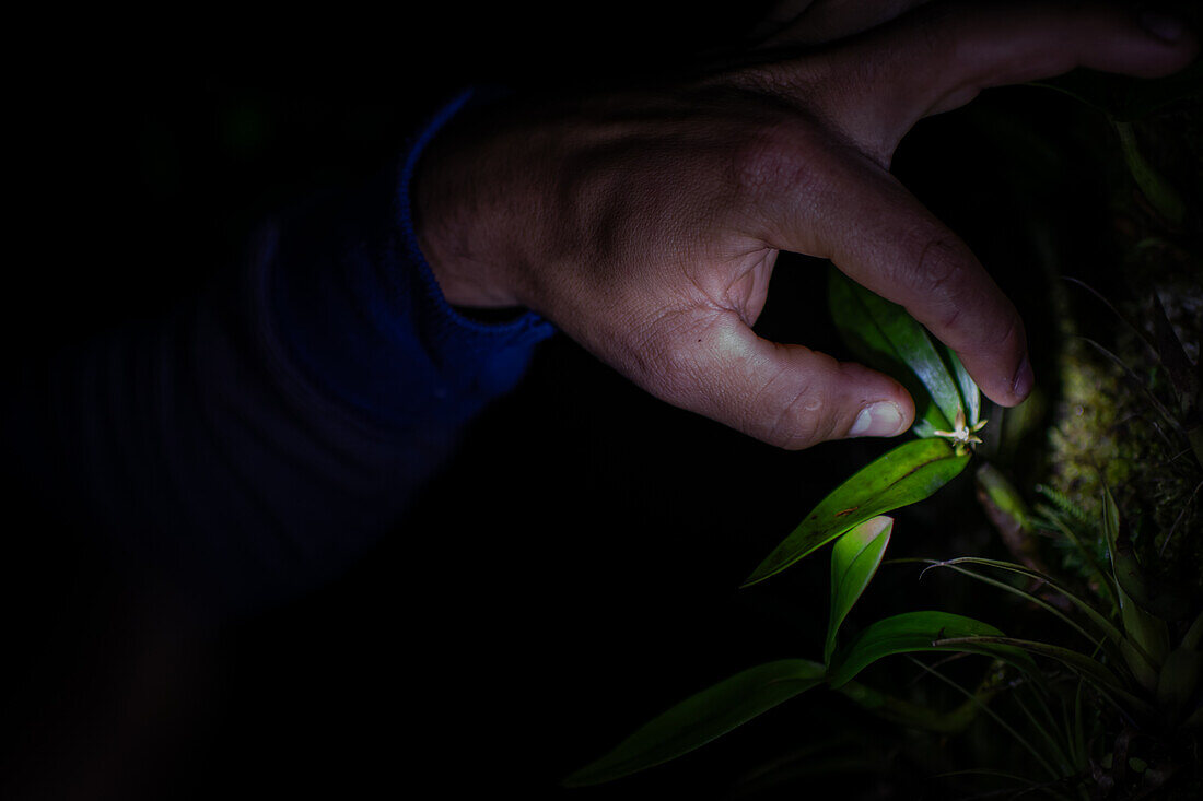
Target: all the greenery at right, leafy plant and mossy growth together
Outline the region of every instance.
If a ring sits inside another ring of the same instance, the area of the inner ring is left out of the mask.
[[[1203,87],[1201,77],[1187,81]],[[1060,87],[1101,112],[1086,130],[1113,134],[1102,170],[1104,249],[1115,259],[1072,281],[1069,265],[1045,265],[1059,380],[1024,407],[989,408],[956,355],[903,309],[831,273],[829,308],[848,349],[907,386],[917,419],[915,439],[832,489],[745,585],[830,546],[823,660],[778,659],[687,698],[569,784],[653,767],[826,689],[894,724],[897,736],[885,740],[896,753],[923,743],[926,759],[912,764],[946,789],[966,782],[958,797],[1201,797],[1203,198],[1166,177],[1166,160],[1186,159],[1183,174],[1203,186],[1203,137],[1183,141],[1203,127],[1203,91],[1187,85],[1197,102],[1154,114],[1166,97],[1185,96],[1180,83],[1158,85],[1151,100],[1145,84]],[[1039,467],[1026,470],[1017,452],[1042,428]],[[924,502],[971,459],[984,516],[1012,558],[884,558],[894,534],[887,512]],[[1015,603],[989,610],[989,622],[943,610],[849,616],[879,566],[948,574]],[[871,669],[900,657],[921,671],[914,681]],[[955,705],[932,693],[941,684],[955,690]],[[953,735],[966,753],[947,748]],[[780,765],[765,772],[792,782]]]

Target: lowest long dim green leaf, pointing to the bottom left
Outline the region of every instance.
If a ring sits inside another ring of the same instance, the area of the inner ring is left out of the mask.
[[[749,668],[653,718],[609,754],[564,779],[564,785],[600,784],[676,759],[822,684],[825,670],[806,659]]]

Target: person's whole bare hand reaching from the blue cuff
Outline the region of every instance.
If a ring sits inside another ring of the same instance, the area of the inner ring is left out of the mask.
[[[795,6],[739,65],[516,100],[440,134],[413,190],[440,287],[534,309],[652,394],[781,447],[902,433],[914,404],[896,381],[753,333],[778,253],[801,253],[903,305],[990,399],[1021,402],[1023,320],[890,174],[894,150],[988,87],[1169,75],[1195,35],[1115,5]]]

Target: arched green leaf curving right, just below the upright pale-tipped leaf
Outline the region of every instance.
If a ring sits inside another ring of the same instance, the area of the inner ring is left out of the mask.
[[[832,659],[829,681],[838,688],[855,678],[878,659],[899,653],[921,651],[958,651],[998,657],[1013,655],[1013,648],[989,645],[946,645],[950,637],[1001,637],[1002,631],[971,617],[949,612],[903,612],[878,621],[861,631]]]

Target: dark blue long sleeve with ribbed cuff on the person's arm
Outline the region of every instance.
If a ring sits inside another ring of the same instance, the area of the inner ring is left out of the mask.
[[[378,180],[268,221],[195,302],[29,367],[4,425],[35,491],[223,615],[312,589],[393,533],[552,333],[532,313],[461,315],[417,245],[414,166],[468,102]]]

